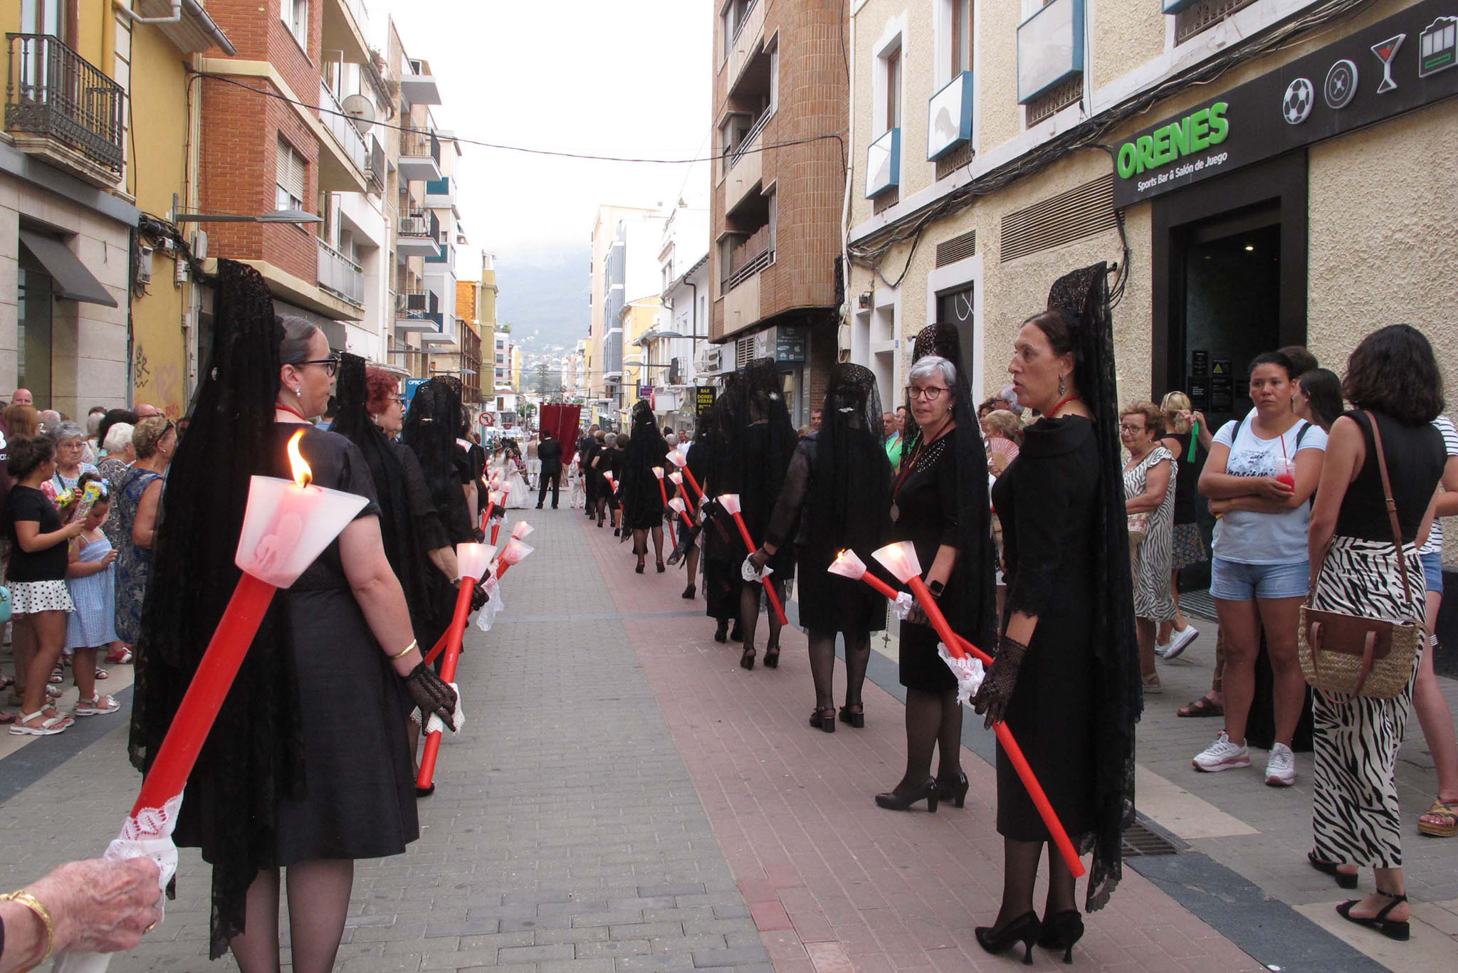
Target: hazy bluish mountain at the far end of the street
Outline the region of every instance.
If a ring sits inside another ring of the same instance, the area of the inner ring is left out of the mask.
[[[567,354],[588,336],[592,245],[539,244],[497,252],[496,319],[510,321],[523,357]]]

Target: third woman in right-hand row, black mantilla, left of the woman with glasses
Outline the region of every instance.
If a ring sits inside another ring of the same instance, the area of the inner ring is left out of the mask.
[[[886,543],[886,495],[881,395],[876,376],[860,365],[837,365],[825,389],[818,432],[800,439],[765,540],[749,560],[763,567],[793,540],[800,578],[800,624],[809,630],[815,709],[811,726],[835,732],[835,635],[846,636],[846,706],[840,722],[866,725],[860,689],[870,662],[870,633],[886,627],[886,600],[868,585],[830,573],[850,548],[863,562]]]

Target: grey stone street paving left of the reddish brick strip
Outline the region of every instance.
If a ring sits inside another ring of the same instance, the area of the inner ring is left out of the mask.
[[[337,969],[770,970],[582,543],[585,518],[521,515],[537,527],[537,553],[503,579],[499,627],[469,629],[467,729],[442,747],[421,839],[360,862]],[[47,743],[25,753],[44,759]],[[118,722],[4,802],[0,884],[99,853],[137,783]],[[236,969],[207,963],[207,867],[184,850],[166,922],[111,970]]]

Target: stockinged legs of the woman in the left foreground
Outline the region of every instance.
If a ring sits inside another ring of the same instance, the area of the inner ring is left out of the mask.
[[[289,938],[296,973],[328,973],[344,937],[354,885],[354,862],[321,858],[290,865]],[[248,932],[229,947],[242,973],[278,973],[278,869],[265,868],[248,887]]]

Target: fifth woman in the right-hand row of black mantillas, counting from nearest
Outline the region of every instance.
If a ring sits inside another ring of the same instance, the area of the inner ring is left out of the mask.
[[[714,642],[739,640],[739,594],[744,578],[739,565],[744,544],[733,518],[714,502],[720,493],[728,493],[729,471],[733,468],[732,443],[735,408],[739,401],[739,375],[725,376],[725,387],[709,407],[694,433],[694,448],[688,451],[688,468],[698,477],[698,484],[709,497],[703,508],[701,524],[704,538],[704,614],[716,621]],[[733,630],[729,623],[733,621]]]

